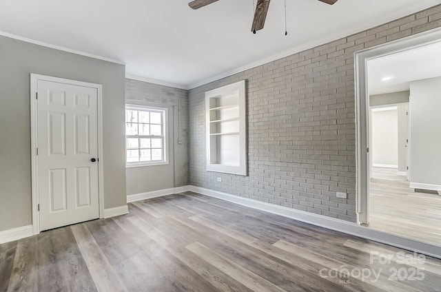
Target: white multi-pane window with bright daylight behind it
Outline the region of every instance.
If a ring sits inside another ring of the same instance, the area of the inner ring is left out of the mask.
[[[167,164],[167,109],[125,106],[127,167]]]

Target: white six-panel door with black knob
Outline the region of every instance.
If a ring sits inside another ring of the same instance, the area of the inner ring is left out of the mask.
[[[99,218],[98,90],[37,81],[40,230]]]

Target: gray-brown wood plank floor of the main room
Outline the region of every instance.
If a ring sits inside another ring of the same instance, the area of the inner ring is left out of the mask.
[[[402,264],[400,249],[215,198],[129,208],[1,244],[0,291],[441,291],[441,260]]]

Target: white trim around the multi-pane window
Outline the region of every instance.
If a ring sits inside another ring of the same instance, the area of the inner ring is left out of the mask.
[[[169,164],[169,156],[168,156],[168,109],[167,107],[151,107],[149,105],[136,105],[134,103],[126,103],[125,104],[125,110],[160,110],[164,112],[163,116],[163,152],[164,152],[164,161],[142,161],[142,162],[130,162],[127,163],[127,135],[125,135],[125,167],[126,168],[132,168],[132,167],[148,167],[148,166],[155,166],[155,165],[168,165]],[[125,121],[124,121],[125,125]]]

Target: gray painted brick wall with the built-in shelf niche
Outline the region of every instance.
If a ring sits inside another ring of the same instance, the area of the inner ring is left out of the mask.
[[[190,184],[356,221],[353,53],[437,28],[440,12],[435,6],[190,90]],[[206,171],[204,92],[244,79],[249,176]]]

